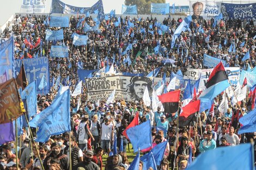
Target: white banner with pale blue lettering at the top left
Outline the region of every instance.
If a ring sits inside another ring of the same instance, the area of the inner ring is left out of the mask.
[[[22,0],[20,13],[45,13],[46,0]]]

